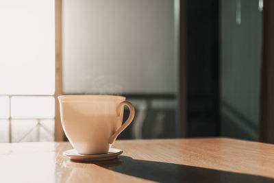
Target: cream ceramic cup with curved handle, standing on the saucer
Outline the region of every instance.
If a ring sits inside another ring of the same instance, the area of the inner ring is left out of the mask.
[[[134,106],[114,95],[61,95],[60,115],[64,132],[78,154],[105,154],[117,136],[134,119]],[[123,106],[129,117],[123,122]]]

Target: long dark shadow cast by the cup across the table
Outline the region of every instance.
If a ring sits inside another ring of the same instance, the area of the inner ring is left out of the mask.
[[[94,163],[112,171],[156,182],[274,182],[274,179],[258,175],[166,162],[134,160],[128,156],[119,156],[119,159],[114,162],[119,163],[110,162],[108,164],[108,161]]]

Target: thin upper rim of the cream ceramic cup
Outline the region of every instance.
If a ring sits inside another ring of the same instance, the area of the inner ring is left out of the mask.
[[[120,95],[59,95],[59,100],[79,100],[79,99],[116,99],[125,100],[125,97]]]

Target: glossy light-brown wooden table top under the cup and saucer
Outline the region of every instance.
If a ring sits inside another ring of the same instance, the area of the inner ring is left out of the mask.
[[[274,182],[274,145],[230,138],[116,141],[118,159],[71,162],[69,143],[0,144],[0,182]]]

